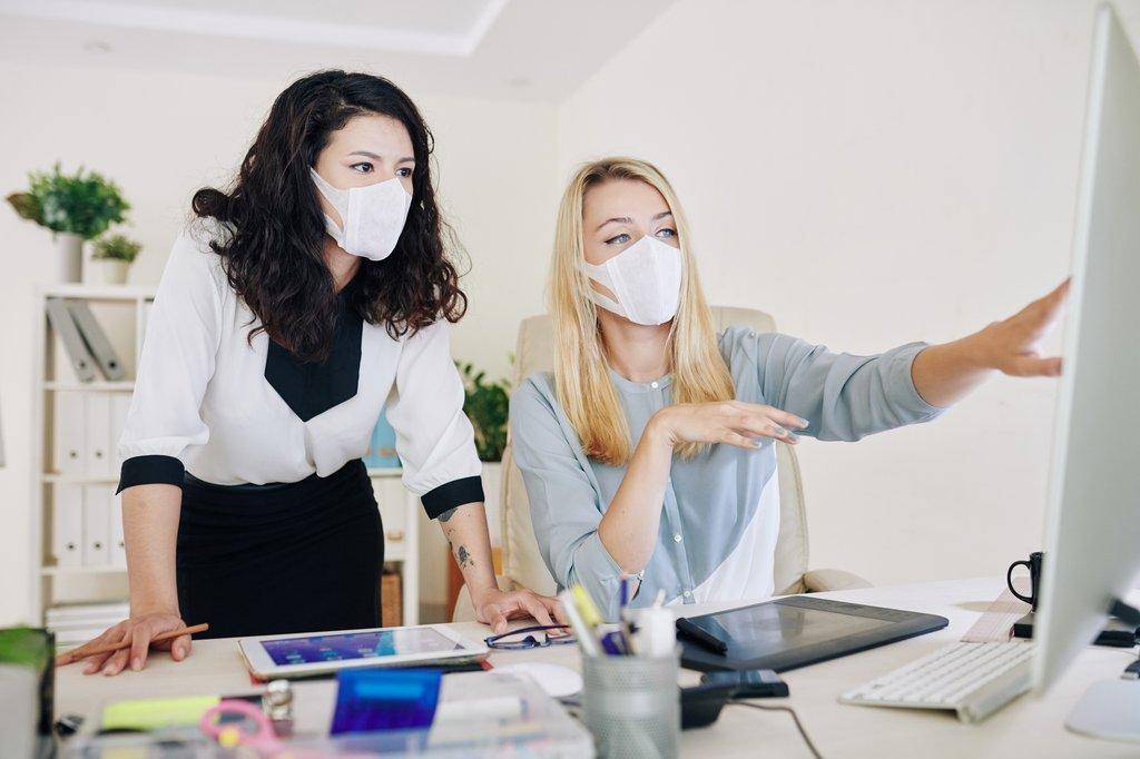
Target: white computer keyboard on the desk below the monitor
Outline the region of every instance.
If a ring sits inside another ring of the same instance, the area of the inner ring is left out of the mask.
[[[1029,689],[1033,644],[952,643],[839,696],[844,703],[948,709],[977,723]]]

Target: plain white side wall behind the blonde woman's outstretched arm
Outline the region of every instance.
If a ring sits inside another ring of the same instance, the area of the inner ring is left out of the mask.
[[[681,0],[560,106],[560,172],[657,163],[714,303],[850,352],[960,336],[1065,276],[1092,9]],[[997,574],[1039,547],[1053,389],[803,443],[813,565]]]

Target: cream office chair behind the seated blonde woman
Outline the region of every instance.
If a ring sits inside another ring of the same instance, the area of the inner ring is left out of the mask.
[[[712,307],[712,320],[718,334],[732,325],[743,325],[762,333],[775,330],[773,318],[755,309]],[[545,315],[529,317],[519,326],[512,386],[518,387],[532,373],[549,370],[554,366],[552,329],[551,317]],[[807,514],[804,511],[799,462],[790,447],[782,442],[775,446],[780,476],[780,534],[776,538],[774,577],[779,595],[870,587],[871,583],[863,578],[842,570],[808,570]],[[557,585],[538,553],[527,489],[522,473],[514,464],[510,435],[503,451],[499,521],[503,534],[503,572],[497,578],[499,587],[505,590],[524,587],[553,595]],[[456,599],[453,619],[457,622],[474,619],[466,586]]]

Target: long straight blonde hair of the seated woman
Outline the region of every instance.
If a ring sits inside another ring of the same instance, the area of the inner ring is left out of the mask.
[[[628,463],[633,452],[629,425],[610,381],[597,310],[589,297],[589,280],[580,264],[585,255],[583,203],[586,191],[621,179],[643,181],[656,188],[665,197],[677,226],[684,274],[681,303],[668,342],[674,402],[722,401],[735,394],[728,367],[717,348],[712,313],[689,247],[689,226],[669,181],[654,165],[636,158],[609,157],[579,166],[559,206],[551,262],[551,315],[557,357],[555,390],[586,456],[613,466]],[[690,443],[683,446],[679,454],[692,457],[702,448]]]

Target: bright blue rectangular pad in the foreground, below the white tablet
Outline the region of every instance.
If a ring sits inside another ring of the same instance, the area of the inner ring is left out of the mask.
[[[438,669],[342,669],[331,733],[431,726],[441,677]]]

